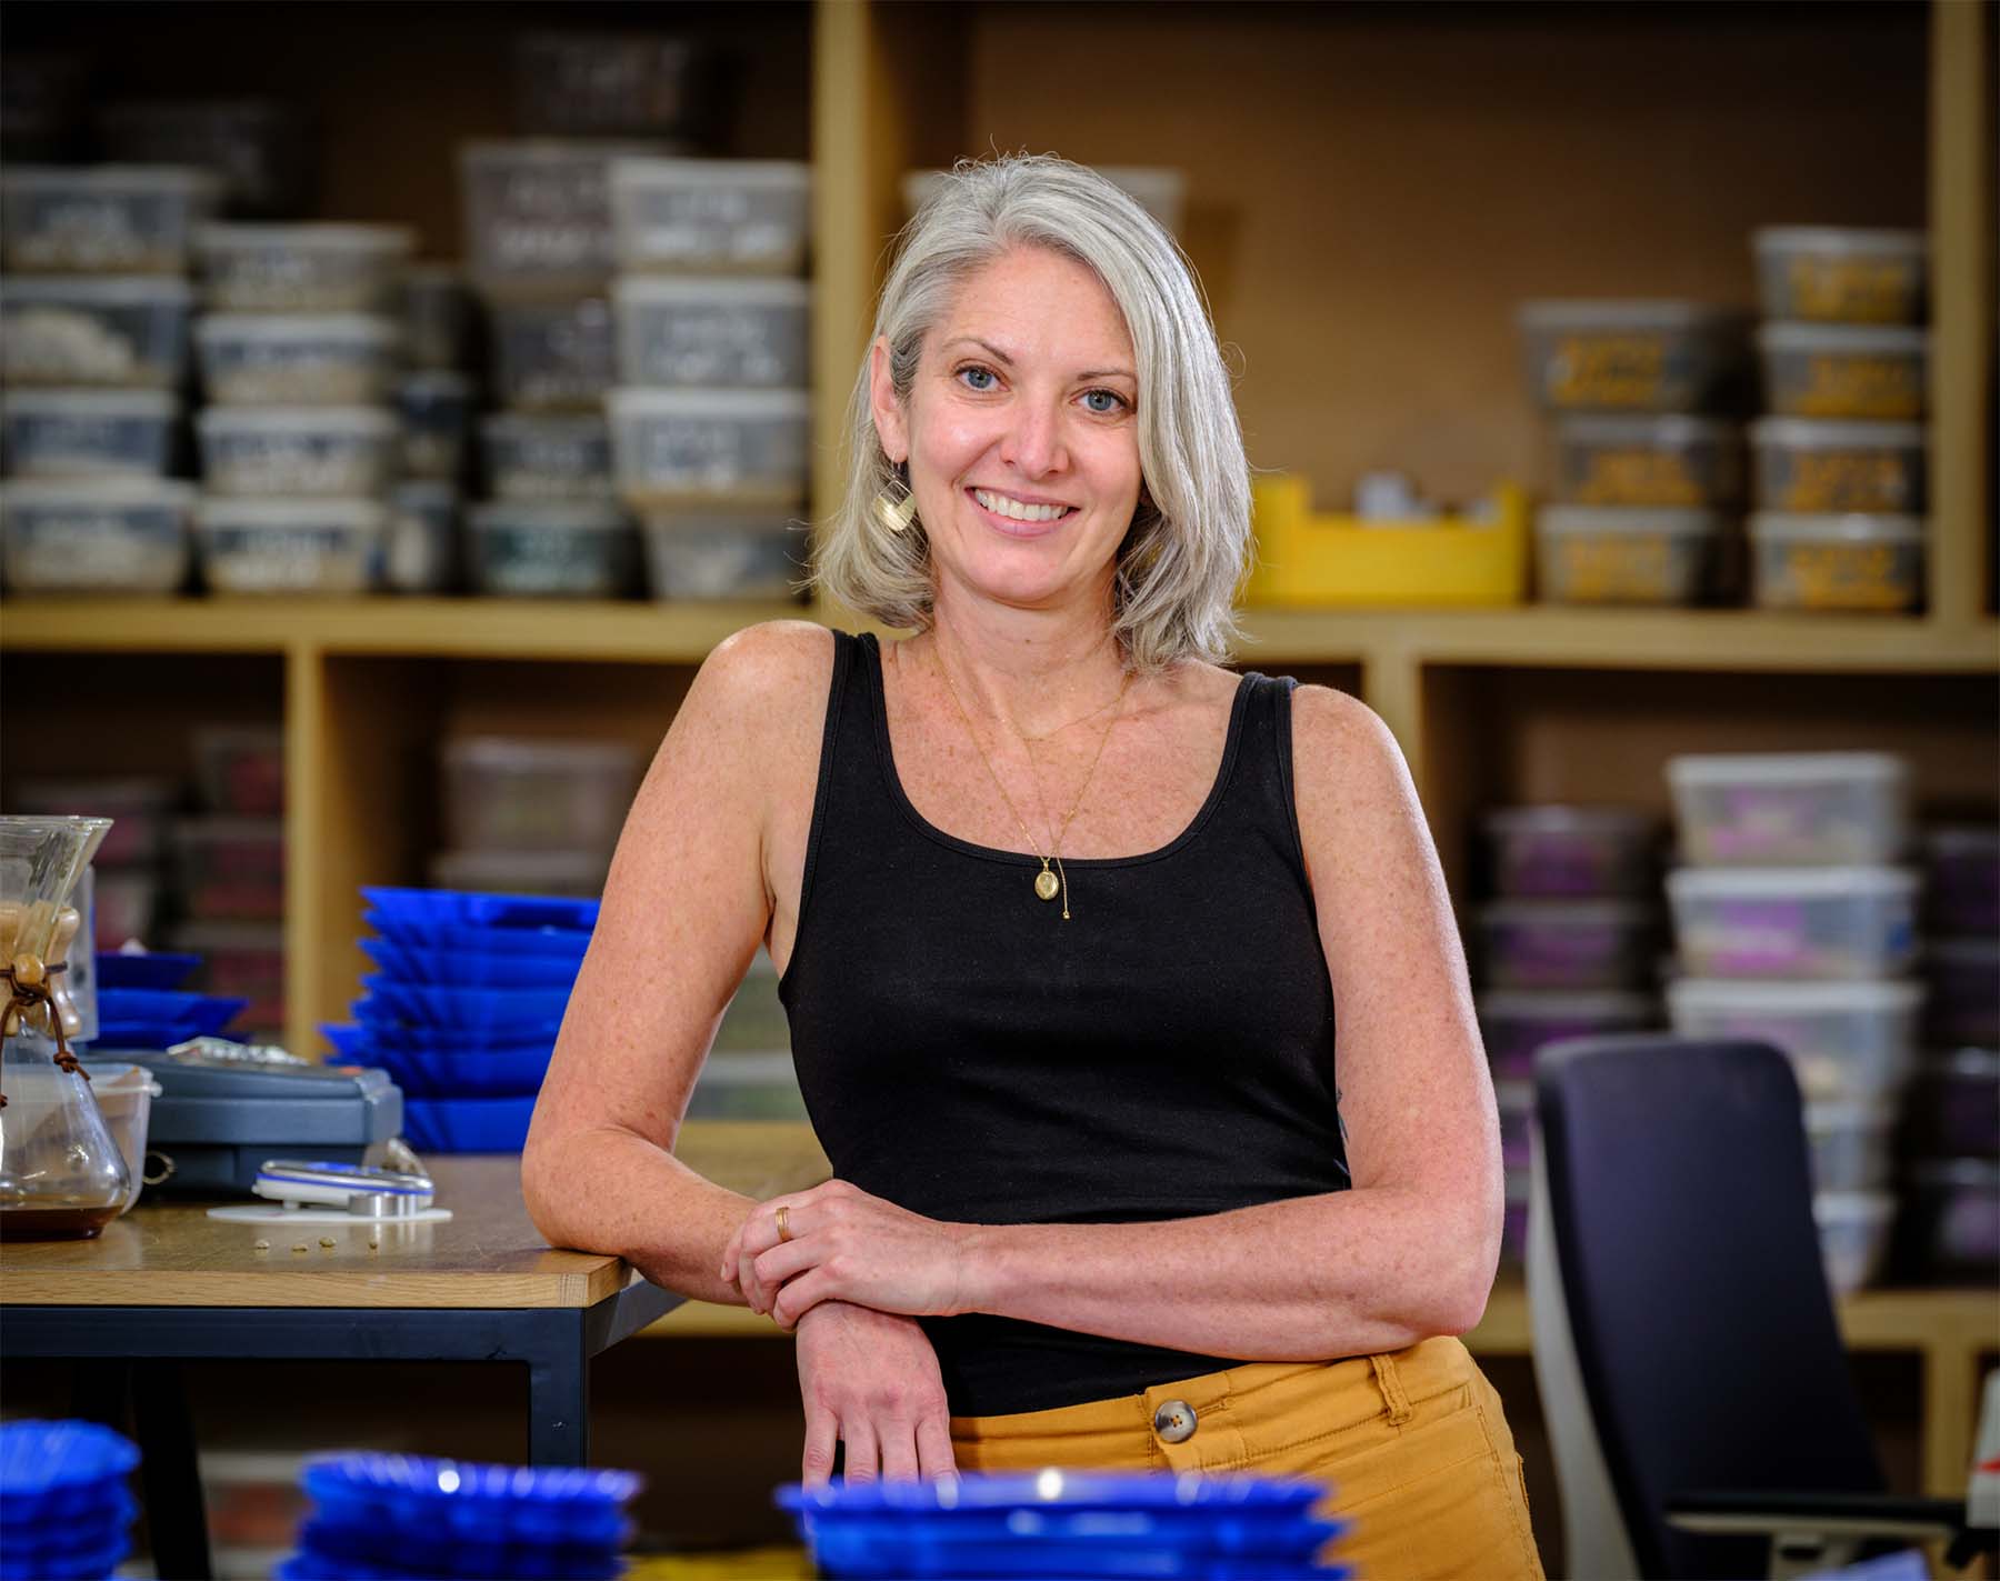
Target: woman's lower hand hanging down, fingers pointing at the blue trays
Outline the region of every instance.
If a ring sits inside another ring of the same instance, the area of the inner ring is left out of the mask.
[[[798,1395],[806,1405],[806,1487],[834,1473],[834,1443],[848,1445],[846,1477],[872,1483],[950,1477],[950,1413],[938,1353],[910,1317],[846,1301],[820,1301],[798,1325]]]

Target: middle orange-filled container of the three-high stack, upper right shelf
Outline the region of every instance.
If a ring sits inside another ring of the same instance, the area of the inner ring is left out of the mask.
[[[1558,418],[1556,498],[1574,506],[1740,504],[1742,428],[1688,416]]]

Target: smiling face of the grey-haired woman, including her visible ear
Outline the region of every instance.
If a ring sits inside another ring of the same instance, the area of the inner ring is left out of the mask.
[[[910,464],[940,596],[1104,602],[1140,496],[1138,376],[1110,292],[1018,248],[970,276],[924,338],[906,404],[876,342],[876,432]]]

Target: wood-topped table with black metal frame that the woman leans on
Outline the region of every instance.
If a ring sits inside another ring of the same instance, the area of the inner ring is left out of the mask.
[[[678,1153],[750,1197],[828,1173],[800,1125],[692,1123]],[[430,1171],[446,1223],[248,1225],[158,1199],[96,1239],[0,1253],[0,1363],[126,1363],[92,1367],[82,1403],[116,1417],[132,1393],[162,1577],[210,1573],[180,1361],[526,1365],[530,1463],[584,1463],[590,1357],[682,1297],[618,1257],[550,1249],[528,1221],[518,1155],[438,1157]]]

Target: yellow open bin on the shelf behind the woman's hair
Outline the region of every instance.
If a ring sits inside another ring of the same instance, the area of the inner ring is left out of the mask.
[[[1494,520],[1316,516],[1306,478],[1258,478],[1258,564],[1244,598],[1296,606],[1492,606],[1528,598],[1528,494],[1500,484]]]

